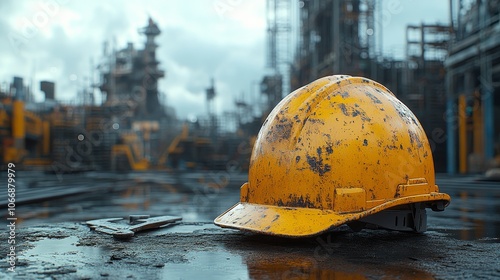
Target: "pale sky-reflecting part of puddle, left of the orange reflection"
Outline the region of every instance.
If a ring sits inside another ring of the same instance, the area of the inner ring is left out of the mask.
[[[248,271],[239,255],[222,251],[190,252],[183,263],[167,263],[161,279],[248,279]]]

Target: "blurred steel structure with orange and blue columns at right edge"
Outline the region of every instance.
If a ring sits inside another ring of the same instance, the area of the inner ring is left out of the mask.
[[[450,4],[447,171],[482,172],[500,154],[500,1]]]

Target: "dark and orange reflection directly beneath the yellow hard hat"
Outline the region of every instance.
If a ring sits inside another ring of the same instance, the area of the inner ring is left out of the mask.
[[[436,254],[413,247],[425,241],[424,235],[353,233],[345,226],[308,239],[248,236],[246,246],[225,247],[243,256],[250,279],[434,279],[411,265]],[[392,247],[398,243],[406,245]]]

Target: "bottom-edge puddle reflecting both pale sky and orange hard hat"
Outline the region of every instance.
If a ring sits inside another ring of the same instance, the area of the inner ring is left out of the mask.
[[[304,255],[286,253],[270,256],[254,252],[242,256],[227,251],[190,252],[183,263],[168,263],[158,278],[164,279],[368,279],[367,275],[388,279],[433,279],[427,272],[398,266],[376,271],[365,266],[336,267],[335,260],[318,262]]]

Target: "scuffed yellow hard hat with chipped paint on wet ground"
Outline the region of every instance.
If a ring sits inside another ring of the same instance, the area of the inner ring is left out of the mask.
[[[425,208],[450,196],[435,184],[432,151],[413,113],[365,78],[321,78],[286,96],[253,147],[240,202],[221,227],[302,237],[348,224],[426,230]]]

